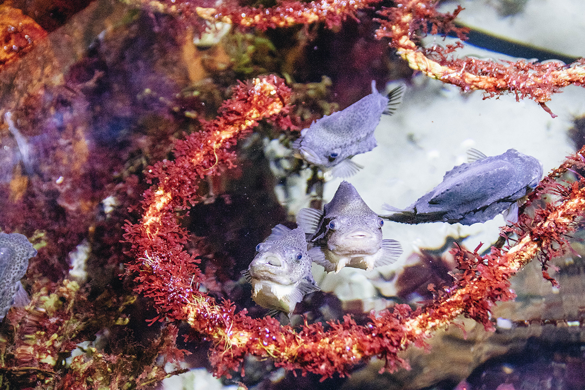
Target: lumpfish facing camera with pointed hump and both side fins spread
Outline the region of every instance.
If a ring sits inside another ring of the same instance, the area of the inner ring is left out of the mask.
[[[301,209],[297,224],[312,233],[309,243],[321,249],[315,263],[327,272],[343,267],[372,270],[394,263],[402,253],[398,241],[382,239],[384,220],[363,201],[355,187],[342,181],[324,211]]]

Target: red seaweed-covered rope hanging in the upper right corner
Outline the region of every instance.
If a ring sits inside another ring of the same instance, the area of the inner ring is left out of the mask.
[[[433,46],[424,49],[417,45],[419,32],[455,32],[464,39],[466,29],[457,28],[453,20],[463,10],[458,6],[455,12],[441,13],[435,8],[435,0],[409,0],[400,7],[385,8],[378,12],[381,23],[376,36],[390,37],[390,46],[408,61],[410,67],[429,77],[454,84],[469,91],[481,89],[487,96],[512,92],[516,99],[530,98],[539,103],[546,112],[555,117],[546,106],[550,96],[570,84],[583,85],[585,82],[585,60],[581,58],[573,64],[560,61],[532,63],[526,60],[516,62],[495,62],[477,58],[449,58],[458,45],[446,48]]]

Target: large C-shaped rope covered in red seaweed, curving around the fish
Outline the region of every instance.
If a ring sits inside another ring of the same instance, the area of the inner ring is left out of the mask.
[[[459,315],[492,329],[490,308],[497,301],[514,298],[511,275],[539,251],[542,256],[558,254],[559,246],[566,243],[565,235],[583,215],[583,182],[561,191],[545,180],[539,193],[554,189],[559,200],[538,210],[534,218],[522,216],[516,229],[519,242],[507,250],[494,247],[487,256],[479,255],[479,247],[473,252],[453,250],[461,271],[455,284],[435,291],[434,301],[422,309],[412,312],[406,305],[397,305],[392,311],[370,315],[370,322],[363,326],[346,316],[343,322],[329,322],[327,327],[305,323],[300,330],[280,326],[270,317],[251,319],[246,310],[236,313],[232,303],[216,303],[197,291],[201,272],[194,256],[182,251],[187,232],[178,226],[176,210],[197,202],[201,178],[232,164],[229,145],[249,132],[257,120],[267,118],[281,127],[290,125],[282,116],[287,99],[288,89],[273,76],[240,84],[223,105],[222,116],[206,123],[203,132],[177,142],[175,161],[163,161],[152,168],[151,177],[158,183],[144,197],[144,216],[140,223],[126,226],[126,239],[140,256],[128,267],[129,272],[135,272],[136,290],[154,299],[157,318],[185,320],[212,341],[211,363],[217,375],[230,375],[231,370],[242,367],[246,354],[271,357],[277,366],[314,372],[323,378],[346,375],[353,365],[373,356],[385,358],[386,368],[394,370],[407,365],[397,356],[398,351],[410,344],[424,344],[433,330]],[[572,164],[584,165],[579,156]],[[558,172],[551,175],[550,180]]]

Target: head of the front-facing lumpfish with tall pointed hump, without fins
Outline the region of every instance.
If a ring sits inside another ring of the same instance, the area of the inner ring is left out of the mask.
[[[324,207],[329,250],[342,253],[375,253],[380,249],[384,220],[363,201],[353,185],[343,181]]]

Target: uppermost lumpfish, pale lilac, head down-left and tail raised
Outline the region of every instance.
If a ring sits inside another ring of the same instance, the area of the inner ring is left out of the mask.
[[[376,147],[374,129],[382,113],[394,113],[403,92],[404,85],[400,85],[384,96],[377,91],[376,81],[372,81],[370,95],[311,123],[294,141],[293,149],[309,163],[331,170],[334,177],[355,174],[363,167],[350,158]]]

